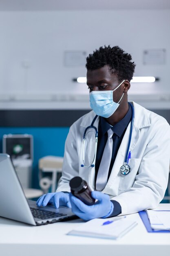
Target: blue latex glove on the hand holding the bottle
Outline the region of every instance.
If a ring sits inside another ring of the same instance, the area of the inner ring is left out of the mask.
[[[108,195],[100,191],[92,191],[92,197],[98,199],[93,205],[86,205],[70,193],[72,212],[83,220],[106,218],[113,212],[114,206]]]

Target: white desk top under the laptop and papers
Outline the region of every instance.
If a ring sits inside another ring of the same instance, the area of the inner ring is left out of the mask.
[[[160,204],[169,209],[170,204]],[[148,233],[138,213],[127,218],[138,225],[120,240],[66,236],[83,220],[32,227],[0,218],[1,256],[170,256],[170,233]]]

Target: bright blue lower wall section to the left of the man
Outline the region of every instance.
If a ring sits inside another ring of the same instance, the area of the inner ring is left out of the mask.
[[[0,127],[0,152],[2,153],[2,137],[4,134],[33,135],[34,141],[34,161],[32,186],[39,188],[38,185],[38,160],[46,155],[64,156],[64,144],[69,131],[69,127],[29,127],[12,128]]]

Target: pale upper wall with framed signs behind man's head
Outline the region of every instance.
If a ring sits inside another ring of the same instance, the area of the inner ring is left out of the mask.
[[[42,108],[42,102],[36,100],[40,94],[44,95],[42,101],[46,98],[44,108],[62,107],[62,101],[50,102],[54,94],[87,95],[86,85],[72,82],[73,77],[86,75],[85,67],[64,66],[64,51],[84,50],[89,54],[105,44],[119,45],[132,54],[137,64],[135,76],[160,78],[157,83],[132,84],[130,95],[164,94],[169,103],[170,9],[13,11],[0,12],[0,108],[30,106],[4,101],[9,95],[14,100],[34,95],[30,108]],[[144,49],[161,48],[166,49],[165,65],[143,65]]]

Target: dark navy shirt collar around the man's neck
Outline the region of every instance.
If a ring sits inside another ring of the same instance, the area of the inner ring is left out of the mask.
[[[106,119],[104,119],[104,117],[100,117],[101,128],[102,128],[102,135],[104,135],[111,128],[113,130],[113,132],[115,132],[115,134],[117,136],[121,137],[121,135],[124,132],[125,128],[127,128],[128,124],[130,122],[131,117],[132,117],[132,109],[131,109],[130,105],[129,105],[128,112],[126,113],[124,118],[121,119],[114,126],[111,126],[110,124],[108,124],[108,122],[106,121]]]

